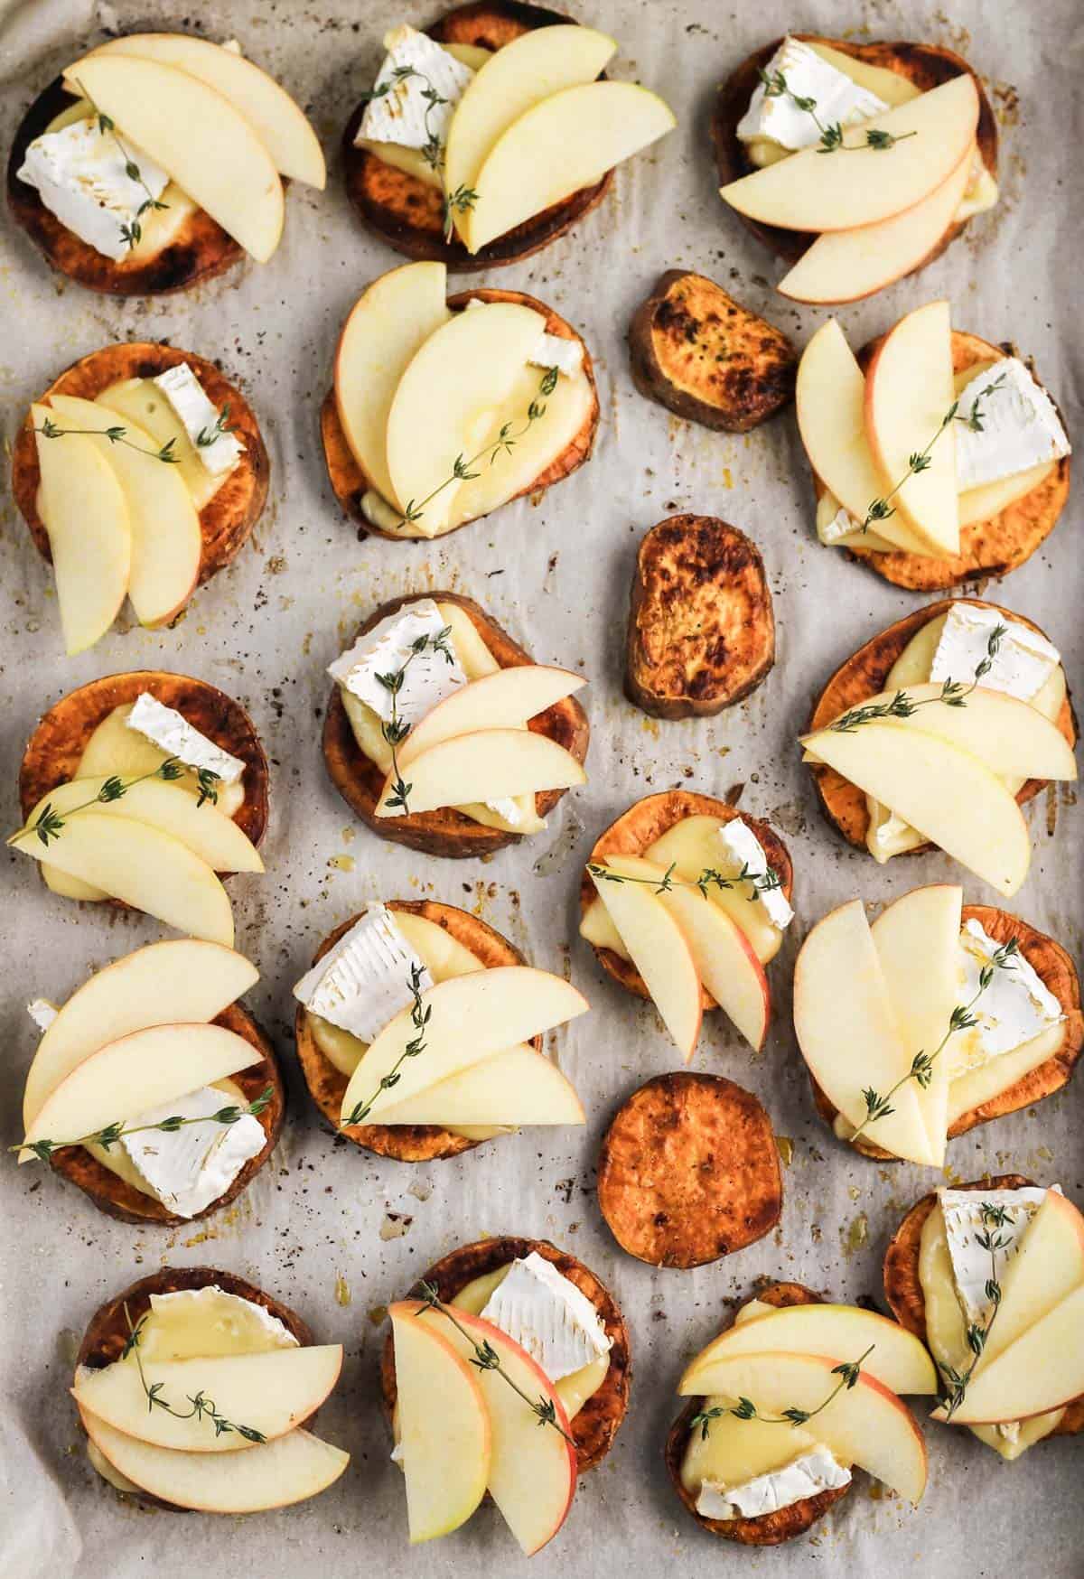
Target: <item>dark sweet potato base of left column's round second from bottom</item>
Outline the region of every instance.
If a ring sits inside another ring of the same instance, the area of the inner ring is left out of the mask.
[[[265,1137],[264,1150],[250,1157],[229,1189],[218,1200],[213,1200],[210,1206],[198,1211],[194,1217],[179,1217],[167,1206],[163,1206],[160,1200],[155,1200],[153,1195],[144,1195],[142,1191],[134,1189],[134,1186],[119,1178],[117,1173],[103,1162],[98,1162],[88,1151],[84,1151],[82,1146],[62,1146],[58,1151],[54,1151],[49,1161],[55,1172],[62,1173],[73,1184],[77,1184],[84,1195],[90,1197],[98,1211],[104,1211],[107,1217],[117,1217],[120,1222],[152,1224],[171,1228],[199,1222],[201,1217],[209,1217],[213,1211],[221,1211],[243,1189],[248,1189],[275,1150],[286,1118],[286,1088],[278,1071],[275,1048],[267,1033],[261,1030],[256,1020],[239,1003],[223,1009],[215,1018],[215,1025],[224,1026],[235,1036],[243,1036],[262,1055],[261,1063],[231,1075],[231,1080],[243,1093],[247,1102],[254,1102],[267,1086],[272,1088],[270,1102],[258,1115],[258,1123],[262,1126]]]

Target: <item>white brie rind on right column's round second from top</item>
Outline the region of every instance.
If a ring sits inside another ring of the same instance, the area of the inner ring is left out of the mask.
[[[991,388],[991,385],[997,388]],[[989,393],[988,393],[989,392]],[[981,398],[981,429],[969,426]],[[1019,357],[977,373],[956,406],[956,483],[961,493],[1014,477],[1071,453],[1057,407]]]

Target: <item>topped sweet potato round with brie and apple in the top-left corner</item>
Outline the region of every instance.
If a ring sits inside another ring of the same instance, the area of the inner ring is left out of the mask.
[[[49,264],[109,295],[161,295],[267,262],[284,180],[322,189],[303,112],[235,41],[111,38],[27,111],[8,204]]]

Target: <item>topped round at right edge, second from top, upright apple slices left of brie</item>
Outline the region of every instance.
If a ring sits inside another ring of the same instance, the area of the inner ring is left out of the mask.
[[[861,349],[830,319],[798,366],[817,535],[917,592],[1022,565],[1068,499],[1057,406],[1011,347],[931,302]]]

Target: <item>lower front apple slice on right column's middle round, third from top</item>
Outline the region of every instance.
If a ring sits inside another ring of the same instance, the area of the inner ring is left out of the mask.
[[[1011,897],[1032,861],[1016,799],[970,752],[921,729],[899,728],[899,722],[864,723],[853,734],[820,729],[801,744],[815,761],[834,767],[953,861]]]

